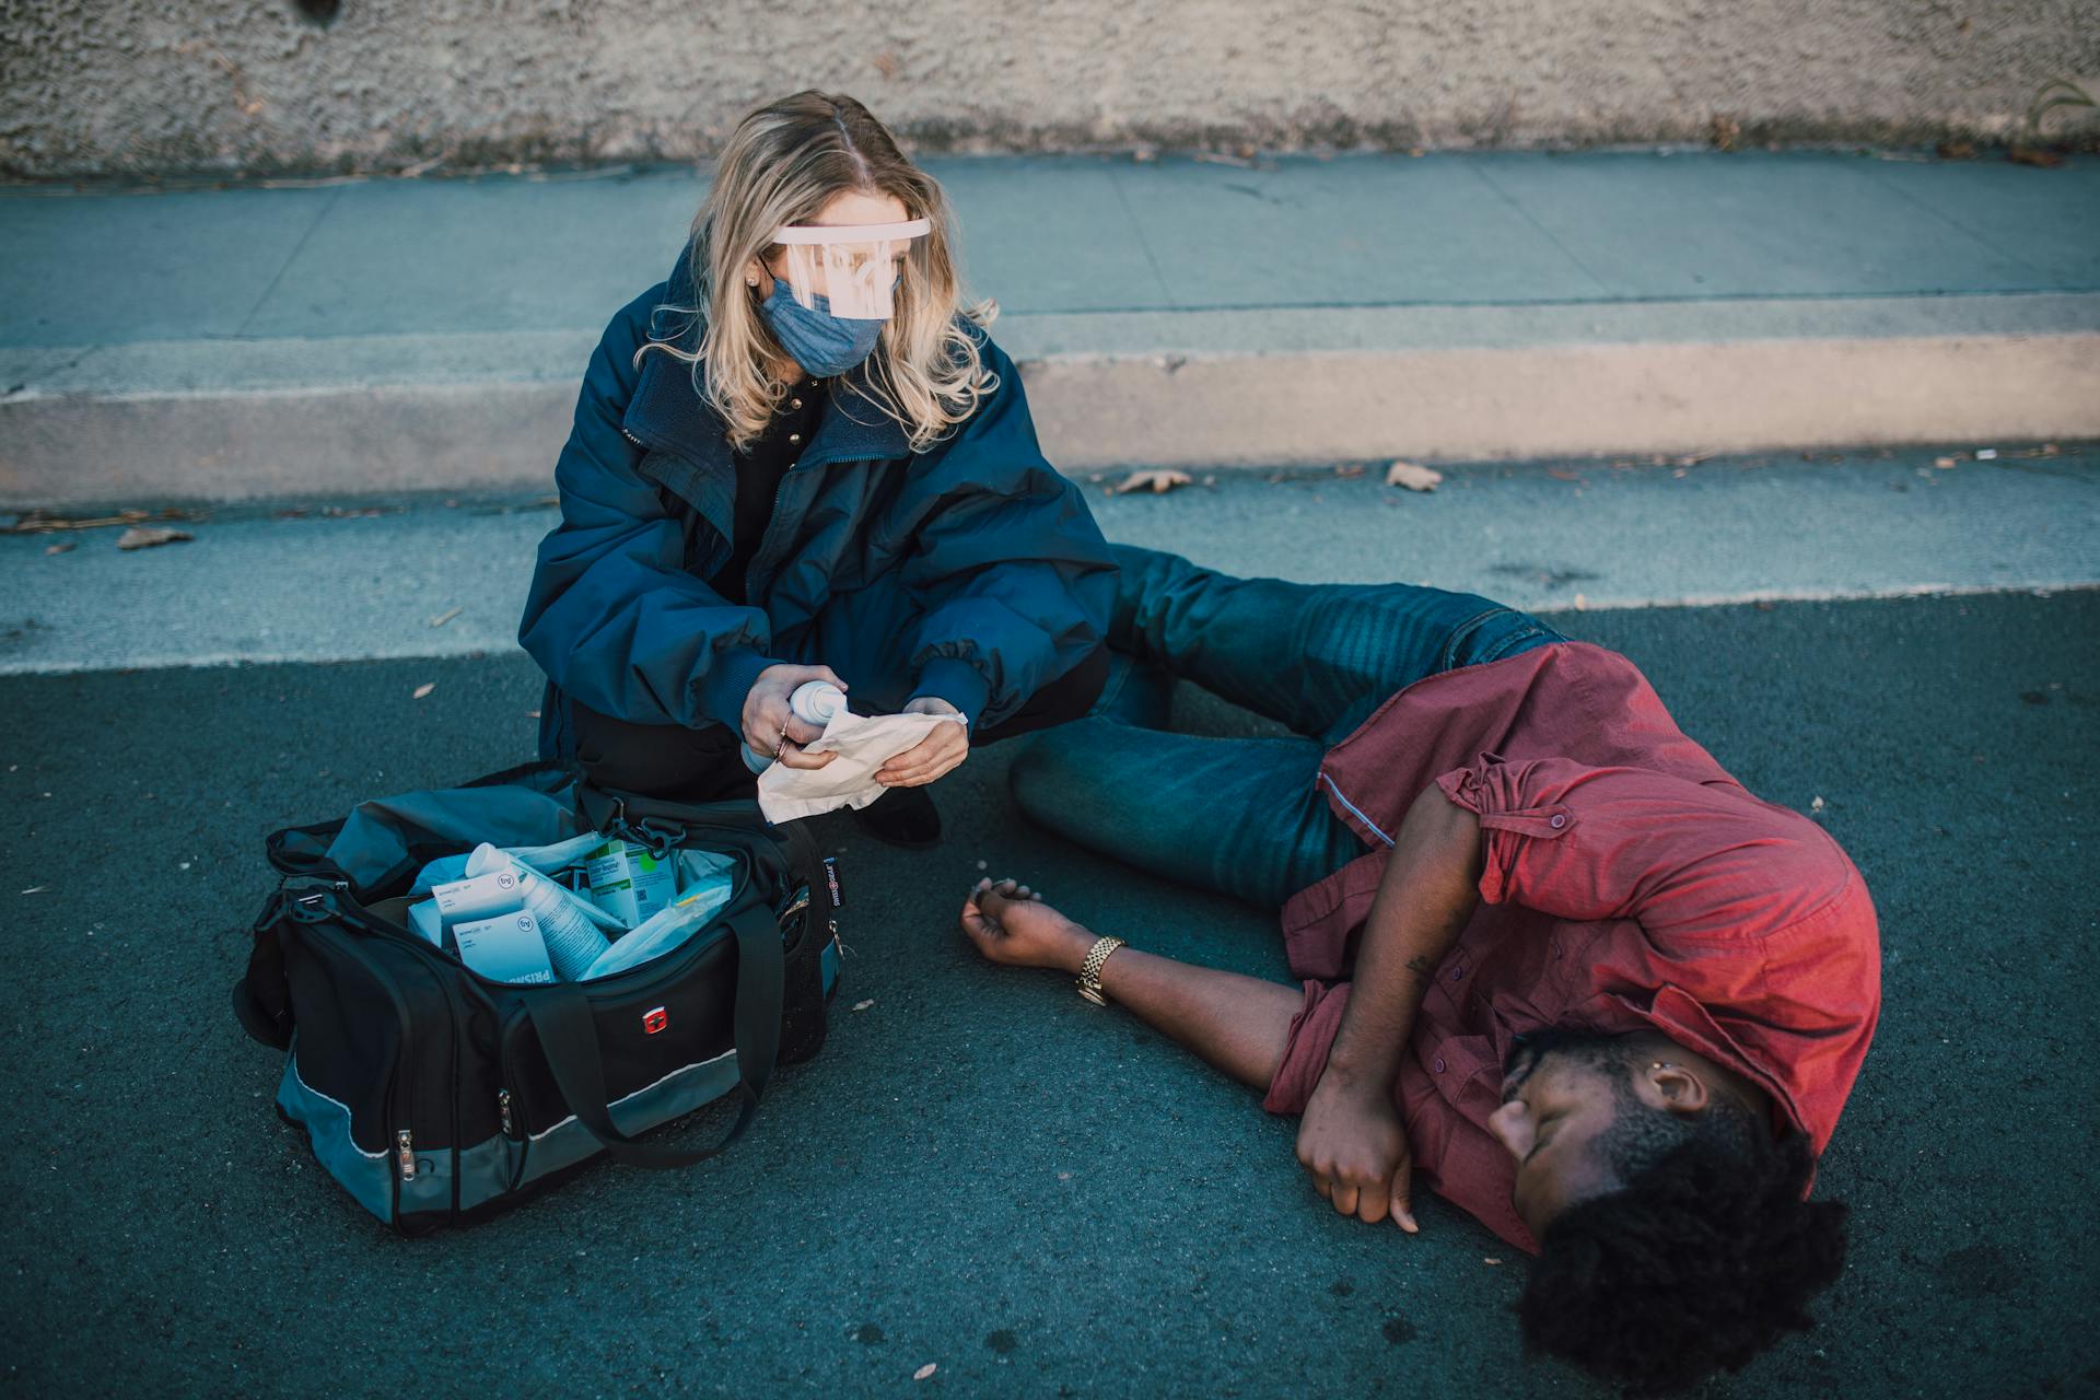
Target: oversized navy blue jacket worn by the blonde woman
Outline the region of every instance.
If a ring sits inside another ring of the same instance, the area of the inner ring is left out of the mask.
[[[1100,644],[1115,563],[1035,443],[1021,372],[974,325],[1000,386],[964,424],[916,453],[834,382],[752,558],[750,607],[710,588],[735,521],[724,424],[687,361],[634,365],[655,309],[693,304],[685,264],[605,327],[554,466],[561,525],[519,623],[550,682],[544,756],[573,758],[567,697],[636,724],[741,728],[775,661],[830,665],[861,712],[937,695],[989,726]],[[697,344],[680,321],[678,344]]]

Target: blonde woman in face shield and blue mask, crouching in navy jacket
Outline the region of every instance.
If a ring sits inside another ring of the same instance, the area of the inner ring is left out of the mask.
[[[794,768],[804,680],[958,714],[878,779],[930,844],[970,745],[1082,716],[1115,565],[1035,445],[989,304],[958,306],[941,187],[850,97],[752,111],[666,283],[592,355],[519,642],[540,747],[605,787],[712,800]],[[821,283],[821,285],[817,285]],[[848,315],[834,315],[836,311]]]

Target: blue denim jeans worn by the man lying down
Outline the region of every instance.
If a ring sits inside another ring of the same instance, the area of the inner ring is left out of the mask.
[[[1029,741],[1014,802],[1079,846],[1262,909],[1363,854],[1319,791],[1329,747],[1424,676],[1564,640],[1474,594],[1235,579],[1157,550],[1115,554],[1109,682],[1088,718]],[[1292,737],[1170,733],[1174,680]]]

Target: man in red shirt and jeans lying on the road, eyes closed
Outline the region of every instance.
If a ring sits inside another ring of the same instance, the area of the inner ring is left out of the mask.
[[[1037,823],[1283,911],[1304,987],[1098,938],[1027,886],[964,932],[1302,1115],[1344,1215],[1413,1178],[1537,1253],[1531,1350],[1644,1390],[1741,1369],[1844,1259],[1806,1201],[1880,1014],[1858,871],[1686,739],[1625,657],[1468,594],[1235,579],[1119,548],[1094,718]],[[1296,737],[1166,733],[1172,680]]]

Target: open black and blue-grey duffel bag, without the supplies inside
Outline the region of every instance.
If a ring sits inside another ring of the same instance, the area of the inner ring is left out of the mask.
[[[584,831],[666,856],[731,858],[731,896],[662,955],[588,982],[510,984],[405,926],[416,873],[479,842]],[[756,802],[598,791],[556,764],[363,802],[269,837],[284,875],[254,924],[233,1005],[286,1049],[277,1110],[368,1211],[403,1232],[519,1203],[607,1152],[638,1167],[714,1157],[752,1121],[775,1064],[817,1054],[838,976],[838,877],[800,825]],[[701,1148],[636,1136],[737,1094]]]

